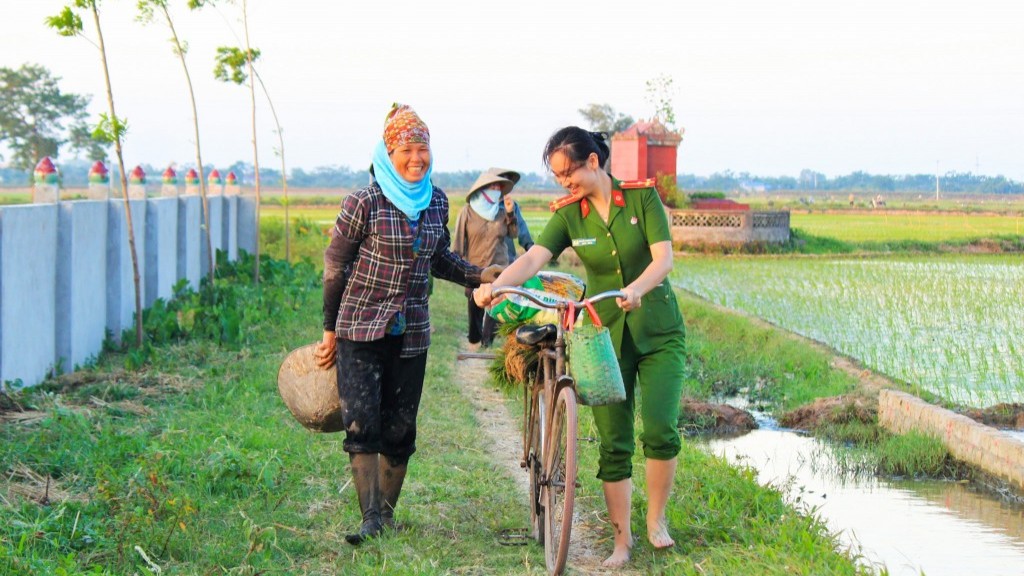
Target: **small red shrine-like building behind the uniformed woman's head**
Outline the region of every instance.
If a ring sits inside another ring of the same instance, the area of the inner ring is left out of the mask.
[[[655,178],[671,174],[676,181],[676,160],[682,128],[669,129],[657,118],[643,120],[611,136],[611,174],[622,180]]]

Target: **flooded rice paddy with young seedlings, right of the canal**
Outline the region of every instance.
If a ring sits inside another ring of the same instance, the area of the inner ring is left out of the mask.
[[[685,257],[673,283],[949,402],[1024,402],[1024,258]]]

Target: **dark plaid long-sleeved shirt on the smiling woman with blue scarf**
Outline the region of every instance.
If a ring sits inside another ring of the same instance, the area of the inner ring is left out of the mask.
[[[324,329],[338,337],[371,341],[384,337],[388,322],[406,315],[401,356],[430,345],[427,273],[463,286],[477,286],[481,269],[450,251],[447,197],[434,187],[420,214],[419,251],[409,219],[377,182],[345,197],[324,253]]]

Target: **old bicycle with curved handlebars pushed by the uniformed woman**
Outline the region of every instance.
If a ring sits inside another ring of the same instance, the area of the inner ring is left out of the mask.
[[[529,475],[529,521],[531,536],[544,544],[550,574],[561,574],[568,556],[577,483],[577,392],[566,372],[565,324],[570,306],[583,310],[587,302],[625,298],[620,290],[601,292],[579,302],[558,300],[552,304],[518,287],[496,288],[494,296],[516,294],[538,305],[554,308],[559,322],[524,325],[516,340],[537,348],[538,370],[523,395],[522,460]],[[570,319],[569,322],[571,322]]]

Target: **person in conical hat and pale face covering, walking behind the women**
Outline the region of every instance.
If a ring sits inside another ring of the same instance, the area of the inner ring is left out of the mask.
[[[455,222],[452,250],[478,266],[506,266],[511,261],[506,240],[517,234],[515,214],[505,209],[505,197],[515,186],[511,179],[483,172],[470,187],[466,205]],[[471,348],[488,347],[495,339],[497,323],[473,301],[471,288],[466,290],[468,333]]]

